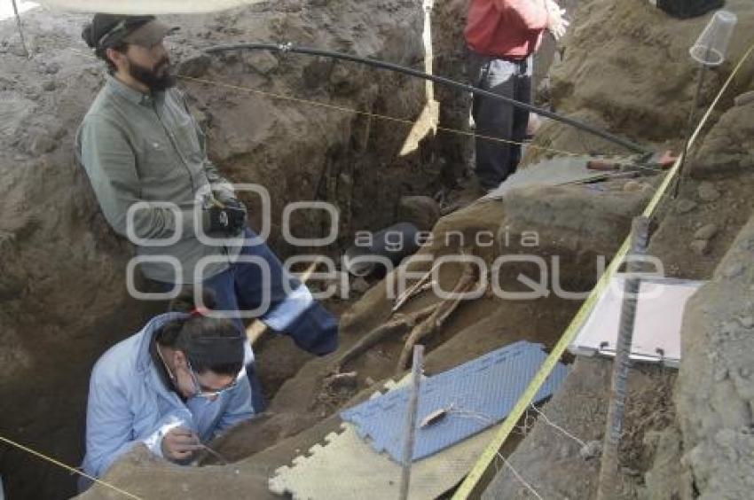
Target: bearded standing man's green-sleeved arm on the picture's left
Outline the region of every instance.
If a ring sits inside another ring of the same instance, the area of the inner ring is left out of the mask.
[[[89,115],[81,129],[81,162],[107,222],[128,237],[129,207],[141,199],[136,157],[122,129],[101,115]],[[165,200],[169,201],[169,200]],[[193,210],[182,210],[181,238],[191,237]],[[177,217],[167,207],[149,205],[136,211],[133,234],[138,238],[169,238],[177,229]]]

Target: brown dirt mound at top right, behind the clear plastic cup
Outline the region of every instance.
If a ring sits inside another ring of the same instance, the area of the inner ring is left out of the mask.
[[[751,43],[754,7],[728,0],[726,9],[737,14],[738,25],[727,61],[706,76],[705,108]],[[564,58],[550,72],[551,104],[559,113],[645,144],[677,144],[694,102],[698,68],[688,49],[708,19],[676,20],[648,2],[579,0],[561,43]],[[744,66],[722,109],[752,88],[752,76],[752,66]],[[546,123],[536,144],[571,152],[624,152],[556,122]]]

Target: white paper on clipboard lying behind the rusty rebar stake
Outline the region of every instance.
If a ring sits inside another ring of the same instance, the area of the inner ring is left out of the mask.
[[[602,293],[584,326],[569,346],[576,355],[616,355],[625,275],[618,274]],[[633,324],[631,359],[680,364],[680,326],[686,301],[703,281],[661,278],[641,281]]]

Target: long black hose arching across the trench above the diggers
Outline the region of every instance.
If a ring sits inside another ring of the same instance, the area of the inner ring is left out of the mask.
[[[590,134],[593,134],[598,137],[602,137],[606,141],[609,141],[617,145],[621,145],[632,152],[642,152],[642,153],[649,152],[647,148],[641,145],[637,145],[636,143],[633,143],[632,141],[629,141],[628,139],[624,139],[623,137],[618,137],[614,134],[609,133],[608,131],[598,129],[587,123],[582,123],[581,121],[577,121],[571,118],[567,118],[565,116],[561,116],[560,114],[547,111],[546,109],[542,109],[535,105],[522,103],[521,101],[517,101],[512,98],[499,96],[498,94],[494,94],[490,92],[489,90],[477,89],[476,87],[473,87],[471,85],[467,85],[465,83],[451,80],[450,78],[444,78],[443,76],[436,76],[435,74],[427,74],[427,73],[424,73],[423,71],[412,69],[410,67],[400,66],[397,64],[393,64],[393,63],[389,63],[389,62],[385,62],[385,61],[381,61],[377,59],[360,58],[358,56],[351,56],[350,54],[343,54],[342,52],[322,51],[319,49],[311,49],[308,47],[295,47],[291,43],[287,43],[287,44],[233,43],[229,45],[216,45],[214,47],[209,47],[208,49],[205,49],[205,51],[208,54],[215,54],[218,52],[236,51],[240,49],[255,50],[255,51],[295,52],[299,54],[309,54],[310,56],[323,56],[326,58],[342,59],[342,60],[347,60],[351,62],[365,64],[367,66],[379,67],[381,69],[388,69],[390,71],[396,71],[397,73],[409,74],[417,78],[423,78],[424,80],[429,80],[430,82],[440,83],[447,87],[452,87],[455,89],[464,90],[466,92],[471,92],[473,94],[483,96],[485,98],[497,99],[509,105],[514,105],[516,107],[520,107],[522,109],[530,111],[531,113],[537,113],[541,116],[546,116],[547,118],[552,118],[553,120],[561,121],[562,123],[570,125],[571,127],[576,127],[577,129],[585,130],[586,132],[589,132]]]

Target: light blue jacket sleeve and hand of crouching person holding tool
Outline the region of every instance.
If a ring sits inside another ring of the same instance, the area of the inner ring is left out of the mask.
[[[86,412],[86,473],[102,477],[114,462],[137,444],[144,444],[162,457],[162,438],[178,426],[186,426],[177,416],[161,419],[154,432],[143,440],[135,439],[134,414],[122,385],[114,383],[95,368],[92,374]]]

